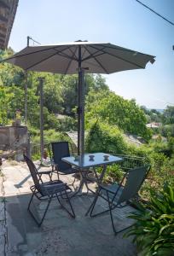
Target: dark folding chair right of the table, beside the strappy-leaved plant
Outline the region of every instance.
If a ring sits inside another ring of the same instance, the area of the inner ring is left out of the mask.
[[[123,177],[120,184],[100,184],[96,191],[94,201],[91,203],[90,208],[85,215],[88,215],[90,212],[90,217],[96,217],[104,212],[109,212],[113,226],[113,232],[115,235],[123,230],[130,228],[129,226],[119,231],[116,230],[113,223],[113,210],[117,207],[122,208],[130,205],[132,200],[139,200],[139,197],[137,196],[138,191],[141,188],[144,179],[147,177],[149,169],[150,166],[141,166],[131,169],[129,172],[125,173],[125,176]],[[107,210],[93,213],[96,207],[96,201],[99,197],[102,197],[102,199],[107,201]]]

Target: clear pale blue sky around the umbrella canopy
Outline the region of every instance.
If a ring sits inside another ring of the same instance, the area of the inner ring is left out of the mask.
[[[174,23],[174,0],[141,2]],[[9,46],[25,48],[27,36],[41,44],[81,39],[155,55],[145,69],[104,77],[110,90],[140,106],[174,106],[174,26],[136,0],[19,0]]]

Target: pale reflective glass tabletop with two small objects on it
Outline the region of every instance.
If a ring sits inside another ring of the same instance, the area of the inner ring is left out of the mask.
[[[94,155],[93,160],[90,160],[90,155]],[[108,155],[107,160],[104,159],[104,155]],[[76,160],[74,156],[63,157],[61,160],[73,166],[77,166],[79,168],[85,168],[85,167],[91,167],[91,166],[109,165],[111,163],[119,162],[123,159],[112,154],[94,153],[94,154],[84,154],[84,155],[78,156],[78,160]]]

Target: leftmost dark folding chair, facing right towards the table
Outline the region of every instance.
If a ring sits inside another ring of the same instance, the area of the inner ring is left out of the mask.
[[[35,168],[32,160],[30,160],[26,155],[24,155],[24,159],[26,160],[26,164],[29,167],[29,170],[31,172],[32,179],[34,182],[34,185],[32,185],[30,188],[32,190],[32,197],[31,197],[31,200],[29,201],[27,209],[31,213],[32,218],[35,220],[35,222],[38,224],[38,226],[41,226],[41,224],[43,223],[46,212],[49,209],[50,202],[55,197],[57,198],[57,201],[61,204],[61,207],[63,207],[70,214],[70,216],[75,218],[73,206],[72,206],[70,198],[68,196],[68,194],[70,192],[72,192],[72,189],[70,189],[67,186],[67,183],[63,183],[63,182],[61,182],[61,180],[50,181],[47,183],[39,183],[40,179],[38,177],[38,172],[36,172],[36,168]],[[43,217],[41,218],[40,221],[38,221],[38,219],[34,216],[34,214],[32,213],[32,211],[30,209],[34,196],[36,198],[38,198],[39,201],[48,201],[48,204],[44,210]],[[67,201],[67,203],[69,204],[69,206],[71,208],[71,212],[67,209],[67,207],[65,207],[62,204],[60,199]]]

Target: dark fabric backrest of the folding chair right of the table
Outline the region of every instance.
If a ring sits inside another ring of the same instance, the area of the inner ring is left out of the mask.
[[[142,186],[144,179],[148,175],[150,166],[141,166],[131,169],[126,178],[125,187],[119,196],[118,204],[129,201],[133,198]]]

